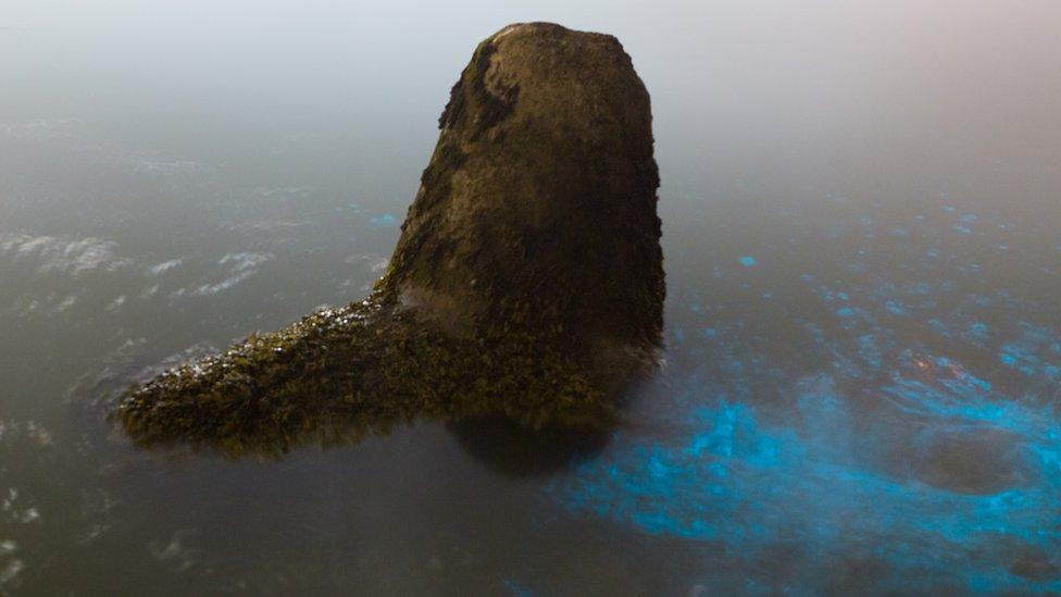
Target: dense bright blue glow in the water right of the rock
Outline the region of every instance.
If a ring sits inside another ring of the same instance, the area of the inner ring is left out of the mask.
[[[842,559],[852,545],[865,544],[893,571],[890,582],[906,579],[907,589],[949,579],[989,592],[1058,590],[1061,580],[1033,582],[983,562],[1012,558],[1014,545],[1047,555],[1061,548],[1051,506],[1061,490],[1061,427],[1046,410],[998,400],[987,382],[952,376],[961,371],[952,359],[933,361],[943,368],[939,380],[896,373],[882,388],[891,410],[878,413],[879,431],[856,433],[850,397],[832,376],[810,376],[794,388],[798,416],[791,426],[721,399],[687,411],[678,424],[688,433],[673,441],[620,439],[608,457],[581,465],[554,497],[572,513],[591,512],[649,534],[725,542],[747,560],[791,542],[824,560]],[[921,421],[920,435],[906,440],[914,446],[919,437],[946,440],[963,428],[971,430],[969,437],[1011,433],[1031,445],[1019,451],[1015,465],[1040,481],[969,494],[881,470],[874,458],[852,459],[882,449],[879,438],[896,433],[884,428],[895,416]],[[909,542],[947,547],[928,557]],[[814,574],[809,571],[801,586],[820,586],[823,579]]]

